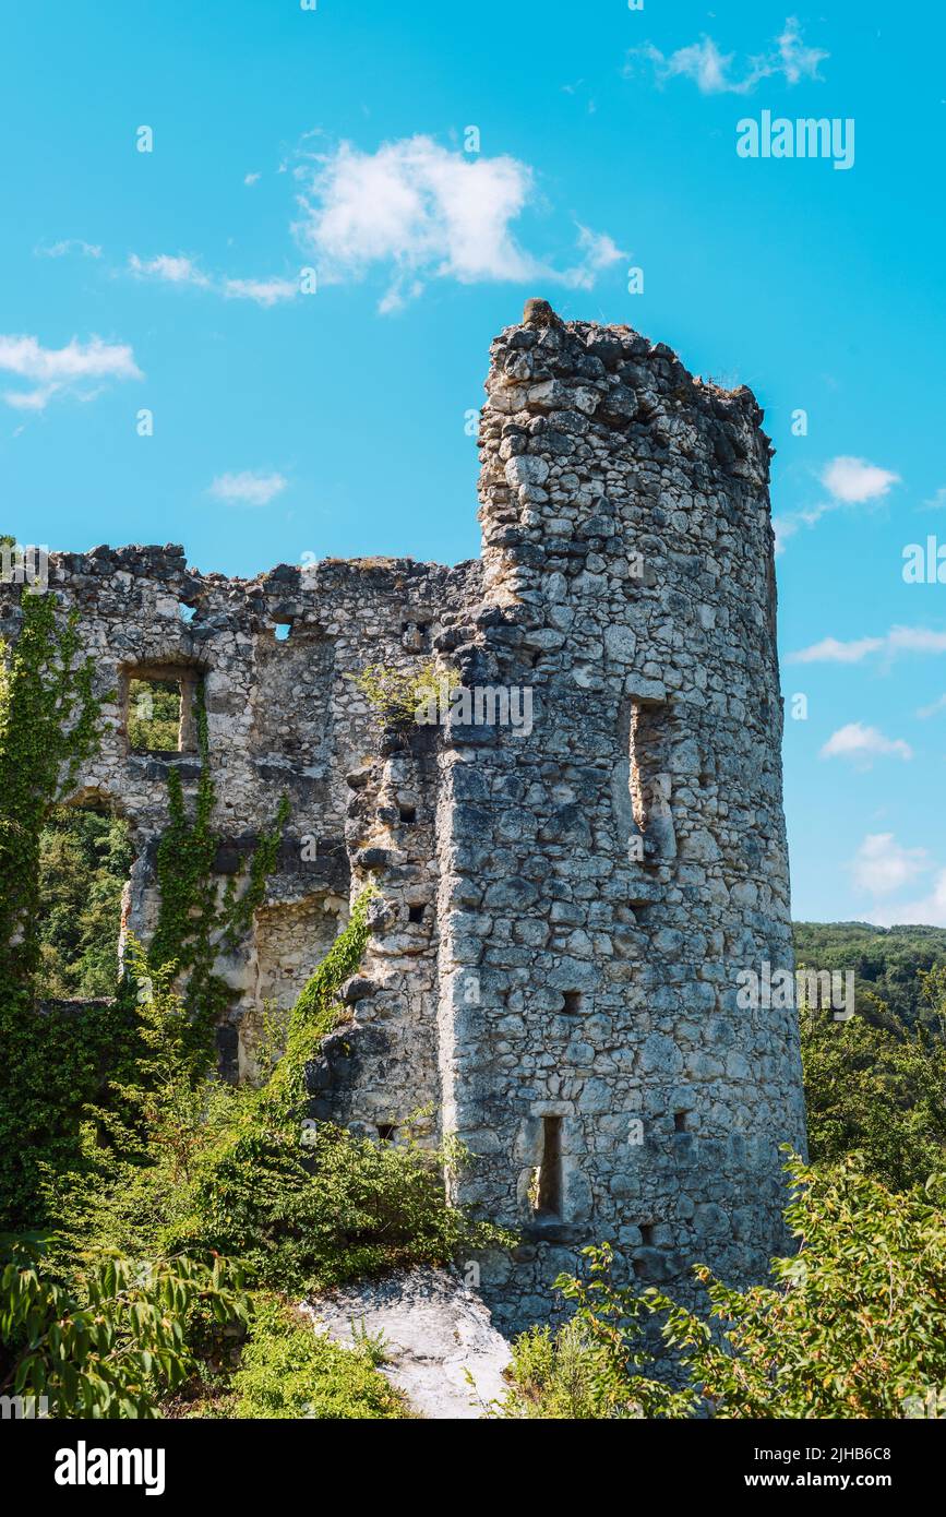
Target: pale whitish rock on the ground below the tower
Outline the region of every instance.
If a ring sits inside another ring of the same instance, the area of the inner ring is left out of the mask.
[[[508,1388],[502,1371],[509,1344],[475,1291],[446,1270],[361,1280],[318,1297],[306,1311],[340,1344],[352,1344],[353,1326],[358,1333],[384,1333],[381,1371],[421,1417],[484,1417]]]

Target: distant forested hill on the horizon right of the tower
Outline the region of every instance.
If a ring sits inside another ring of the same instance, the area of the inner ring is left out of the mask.
[[[794,954],[808,969],[854,969],[857,1009],[876,1021],[872,997],[913,1027],[934,1025],[923,1007],[919,969],[946,965],[946,927],[872,927],[867,922],[794,922]]]

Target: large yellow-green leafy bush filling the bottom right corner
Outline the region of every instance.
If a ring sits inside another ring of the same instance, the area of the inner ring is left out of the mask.
[[[732,1291],[699,1270],[726,1347],[655,1292],[664,1336],[716,1417],[902,1417],[946,1384],[943,1179],[897,1195],[850,1159],[788,1170],[800,1248],[773,1262],[775,1286]]]

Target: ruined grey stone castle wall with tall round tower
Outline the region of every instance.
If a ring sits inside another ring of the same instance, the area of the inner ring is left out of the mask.
[[[293,806],[252,941],[218,966],[221,1068],[252,1077],[264,1003],[293,1003],[373,880],[309,1117],[397,1141],[423,1110],[431,1138],[459,1135],[475,1162],[455,1197],[522,1238],[482,1261],[506,1329],[547,1317],[590,1242],[682,1292],[697,1259],[744,1283],[784,1242],[794,1013],[737,1006],[740,969],[793,962],[760,422],[747,388],[693,378],[663,343],[529,300],[491,347],[479,561],[247,581],[174,546],[50,555],[50,592],[118,692],[74,799],[129,821],[127,925],[153,927],[200,680],[220,874],[280,792]],[[17,602],[5,586],[8,636]],[[468,689],[528,689],[531,731],[462,713],[382,730],[350,677],[432,658]],[[132,680],[179,686],[179,751],[130,748]]]

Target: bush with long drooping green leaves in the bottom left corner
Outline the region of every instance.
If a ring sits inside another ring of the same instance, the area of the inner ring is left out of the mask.
[[[42,1271],[30,1239],[12,1239],[0,1273],[6,1394],[49,1397],[52,1417],[156,1417],[193,1370],[185,1321],[202,1308],[247,1317],[223,1261],[99,1258],[70,1286]]]

